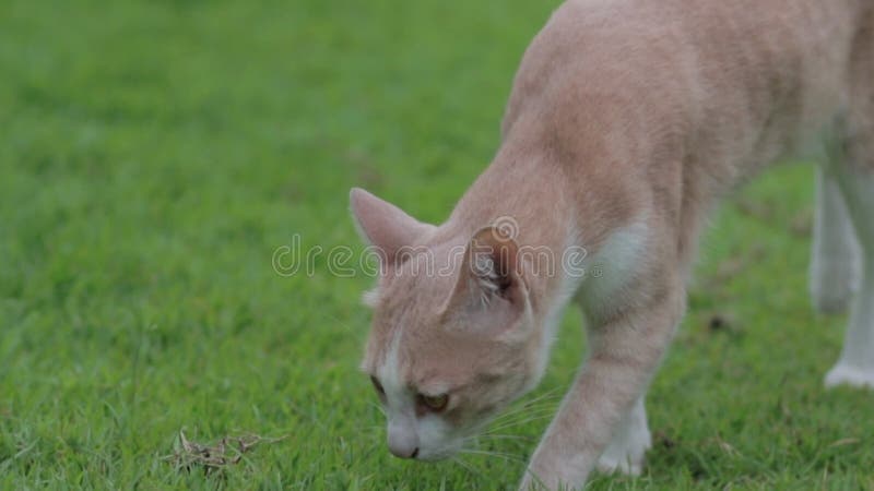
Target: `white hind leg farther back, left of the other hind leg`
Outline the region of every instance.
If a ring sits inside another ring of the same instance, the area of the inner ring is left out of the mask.
[[[860,251],[843,202],[843,193],[830,170],[816,175],[816,216],[810,288],[819,312],[842,312],[859,286]]]

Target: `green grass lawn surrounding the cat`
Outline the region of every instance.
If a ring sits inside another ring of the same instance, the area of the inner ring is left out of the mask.
[[[546,420],[472,470],[390,457],[357,371],[368,279],[271,260],[295,235],[359,250],[352,185],[445,218],[554,5],[1,2],[0,489],[512,488]],[[820,383],[845,320],[806,298],[811,196],[790,167],[721,209],[647,472],[592,489],[874,487],[874,394]],[[182,428],[287,438],[205,476],[163,459]]]

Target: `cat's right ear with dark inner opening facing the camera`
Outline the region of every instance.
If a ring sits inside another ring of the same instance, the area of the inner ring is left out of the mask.
[[[487,314],[476,323],[515,323],[528,308],[519,244],[497,227],[473,235],[464,252],[447,314]],[[476,315],[479,316],[479,315]]]

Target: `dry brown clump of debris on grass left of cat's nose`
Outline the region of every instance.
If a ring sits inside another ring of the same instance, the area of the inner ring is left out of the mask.
[[[213,445],[197,443],[188,440],[185,429],[179,430],[179,439],[174,445],[173,455],[164,457],[179,470],[190,471],[194,467],[203,468],[204,474],[220,471],[228,466],[239,464],[243,455],[261,443],[276,443],[287,436],[275,439],[264,438],[253,433],[238,436],[223,436]]]

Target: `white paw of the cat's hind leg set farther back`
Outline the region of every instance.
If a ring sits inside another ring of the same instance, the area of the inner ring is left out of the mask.
[[[811,266],[811,297],[817,311],[847,310],[859,286],[859,265],[851,259],[814,261]]]

